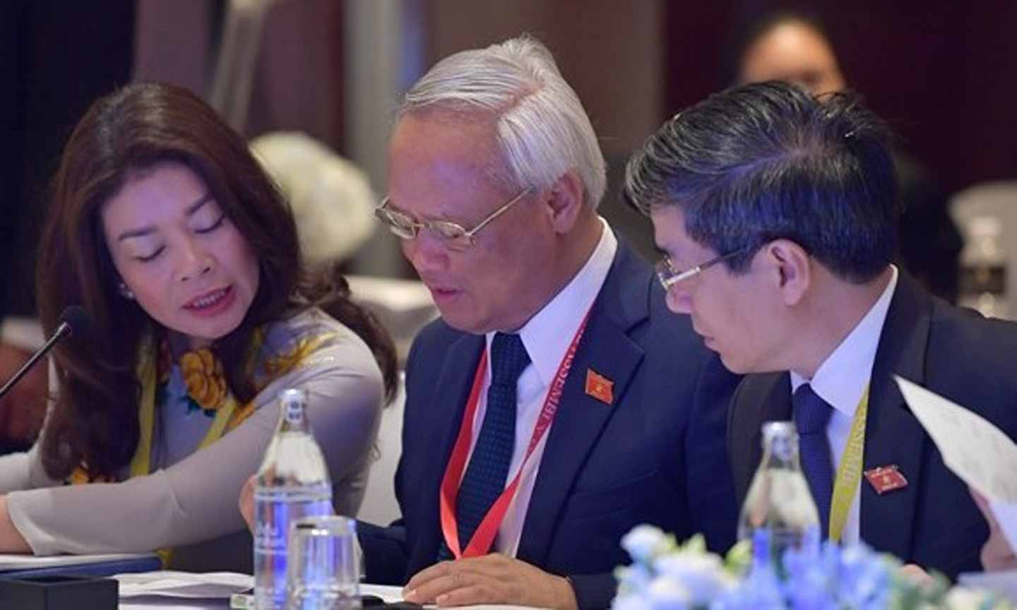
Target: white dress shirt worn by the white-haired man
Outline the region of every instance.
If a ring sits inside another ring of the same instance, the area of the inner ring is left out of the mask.
[[[561,364],[569,346],[572,345],[586,312],[600,293],[607,271],[611,267],[611,261],[614,260],[614,253],[618,247],[617,239],[607,221],[603,219],[600,221],[602,226],[600,241],[586,264],[543,309],[519,329],[520,338],[530,356],[530,364],[523,370],[517,385],[516,446],[513,449],[512,464],[508,466],[508,482],[519,472],[523,463],[534,426],[537,424],[537,417],[544,406],[544,400],[557,373],[558,365]],[[488,332],[486,336],[488,353],[493,338],[494,332]],[[490,385],[490,379],[491,369],[488,359],[486,377],[473,419],[471,456],[487,410],[487,387]],[[553,427],[553,424],[550,427]],[[540,443],[534,448],[533,455],[526,464],[516,497],[508,504],[501,528],[498,530],[498,536],[491,549],[493,551],[515,556],[519,549],[526,510],[533,494],[533,485],[537,479],[537,471],[540,468],[547,436],[550,434],[550,427],[544,432]],[[464,474],[465,471],[466,469]]]

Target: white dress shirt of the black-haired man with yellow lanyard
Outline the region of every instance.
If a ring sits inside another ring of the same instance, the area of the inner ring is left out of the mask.
[[[873,376],[873,364],[876,362],[876,351],[880,345],[880,334],[886,321],[890,300],[897,287],[897,267],[890,265],[892,274],[883,294],[873,304],[869,313],[840,342],[840,345],[823,361],[816,375],[810,380],[791,371],[791,391],[802,383],[810,383],[821,399],[833,407],[833,416],[827,425],[827,438],[830,440],[830,450],[833,452],[833,472],[836,478],[844,455],[844,447],[851,433],[851,422],[854,412],[858,409],[869,381]],[[841,542],[850,544],[857,542],[860,530],[860,482],[854,489],[851,507],[847,512],[847,522]]]

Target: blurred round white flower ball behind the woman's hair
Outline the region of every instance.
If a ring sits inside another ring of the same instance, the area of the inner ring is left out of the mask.
[[[297,131],[266,133],[250,146],[293,208],[309,266],[346,259],[371,236],[376,196],[356,165]]]

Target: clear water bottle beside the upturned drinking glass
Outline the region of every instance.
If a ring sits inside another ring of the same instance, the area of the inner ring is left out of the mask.
[[[284,389],[280,418],[254,487],[254,606],[286,607],[286,554],[290,524],[332,514],[332,482],[307,422],[307,392]]]

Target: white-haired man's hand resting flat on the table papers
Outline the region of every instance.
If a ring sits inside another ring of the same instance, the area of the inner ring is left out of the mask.
[[[518,604],[575,609],[576,594],[562,576],[498,553],[442,561],[417,572],[403,595],[409,602],[438,606]]]

